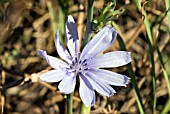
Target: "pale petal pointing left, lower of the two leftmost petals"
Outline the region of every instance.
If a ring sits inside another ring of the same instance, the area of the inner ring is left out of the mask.
[[[51,70],[46,73],[43,73],[40,76],[40,79],[45,82],[58,82],[62,80],[65,76],[66,75],[62,71],[62,69],[57,69],[57,70]]]

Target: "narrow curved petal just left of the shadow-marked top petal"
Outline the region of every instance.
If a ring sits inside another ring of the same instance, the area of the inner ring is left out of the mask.
[[[58,34],[59,34],[59,31],[57,31],[57,33],[55,34],[55,38],[54,38],[54,42],[55,42],[57,52],[62,59],[64,59],[68,63],[70,63],[71,62],[70,54],[68,53],[66,48],[59,41]]]

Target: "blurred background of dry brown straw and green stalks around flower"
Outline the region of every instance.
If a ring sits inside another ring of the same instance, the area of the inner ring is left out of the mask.
[[[113,3],[112,6],[109,6]],[[115,4],[116,3],[116,4]],[[58,83],[45,83],[39,76],[51,67],[37,55],[38,49],[58,57],[54,34],[72,15],[80,43],[86,31],[87,0],[0,0],[0,111],[4,114],[64,114],[65,98]],[[132,63],[110,69],[131,77],[117,93],[104,97],[96,93],[92,114],[165,114],[170,109],[170,13],[169,0],[95,0],[92,35],[105,24],[119,33],[105,52],[128,50]],[[112,13],[106,20],[105,13]],[[113,8],[113,9],[112,9]],[[115,8],[115,9],[114,9]],[[102,20],[98,17],[101,16]],[[105,23],[106,21],[106,23]],[[169,23],[168,23],[169,22]],[[78,114],[81,100],[78,83],[73,111]],[[170,113],[170,112],[169,112]]]

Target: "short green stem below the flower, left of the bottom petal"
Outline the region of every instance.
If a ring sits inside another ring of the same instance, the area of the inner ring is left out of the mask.
[[[73,114],[73,94],[74,92],[67,95],[67,114]]]

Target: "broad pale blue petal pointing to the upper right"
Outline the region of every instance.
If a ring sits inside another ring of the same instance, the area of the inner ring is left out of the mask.
[[[93,39],[84,47],[80,59],[88,59],[97,56],[107,49],[116,39],[117,31],[109,26],[103,27]]]

